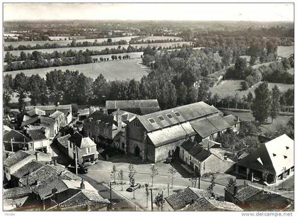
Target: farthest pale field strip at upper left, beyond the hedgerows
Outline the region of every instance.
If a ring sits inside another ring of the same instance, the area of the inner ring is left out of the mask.
[[[57,36],[57,37],[62,37],[62,36]],[[65,36],[66,37],[66,36]],[[13,41],[13,42],[6,42],[4,43],[5,46],[8,45],[13,45],[13,47],[18,47],[18,45],[31,45],[31,46],[35,46],[35,45],[44,45],[44,44],[58,44],[58,45],[67,45],[69,43],[71,43],[72,40],[64,40],[65,38],[64,36],[62,37],[63,40],[59,40],[59,39],[53,39],[54,41],[49,41],[49,40],[35,40],[35,41]],[[68,36],[68,37],[78,37],[78,36]],[[66,37],[68,39],[68,37]],[[135,38],[138,36],[127,36],[127,37],[117,37],[117,38],[111,38],[112,41],[118,41],[118,40],[127,40],[127,42],[129,42],[129,40],[131,40],[131,38]],[[50,37],[52,38],[52,37]],[[79,42],[83,42],[83,41],[88,41],[88,42],[94,42],[95,40],[97,40],[98,43],[106,41],[107,38],[94,38],[94,39],[78,39],[76,40],[77,43]]]

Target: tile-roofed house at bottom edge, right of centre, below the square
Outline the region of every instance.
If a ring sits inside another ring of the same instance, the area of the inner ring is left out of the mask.
[[[242,211],[231,202],[221,201],[221,196],[211,196],[202,189],[185,188],[165,197],[163,211]]]

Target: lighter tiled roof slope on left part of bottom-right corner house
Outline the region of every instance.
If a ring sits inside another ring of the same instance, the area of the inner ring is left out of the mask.
[[[238,199],[240,202],[245,202],[247,199],[250,199],[250,197],[254,196],[255,194],[262,191],[261,189],[257,189],[255,187],[252,187],[250,185],[242,185],[237,187],[237,194],[235,195],[235,199]],[[225,189],[230,194],[233,194],[234,187],[226,187]]]

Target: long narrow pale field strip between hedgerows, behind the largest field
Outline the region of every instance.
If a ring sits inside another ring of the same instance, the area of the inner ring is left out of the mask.
[[[190,42],[175,42],[175,43],[151,43],[151,44],[138,44],[138,45],[133,45],[133,47],[169,47],[169,46],[175,46],[175,45],[183,45],[183,44],[187,44],[190,45]],[[119,45],[106,45],[106,46],[94,46],[94,47],[79,47],[79,48],[50,48],[50,49],[37,49],[37,51],[39,52],[64,52],[67,50],[105,50],[105,48],[117,48]],[[121,45],[122,48],[128,48],[129,45]],[[12,55],[20,55],[22,50],[11,50],[9,52],[11,52]],[[30,52],[32,53],[34,50],[23,50],[23,52]],[[4,55],[6,54],[7,51],[4,51]]]

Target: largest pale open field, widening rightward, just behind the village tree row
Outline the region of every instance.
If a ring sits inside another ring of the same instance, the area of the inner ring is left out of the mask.
[[[69,69],[71,71],[78,70],[78,72],[82,72],[87,77],[91,77],[93,79],[98,77],[98,75],[101,73],[107,80],[140,80],[142,76],[150,72],[150,69],[148,69],[148,67],[141,65],[141,60],[131,59],[115,60],[110,62],[96,62],[81,65],[68,65],[62,67],[49,67],[42,69],[25,69],[12,72],[3,72],[3,74],[11,74],[13,77],[15,77],[16,74],[23,72],[28,77],[30,77],[32,74],[39,74],[40,77],[45,78],[45,74],[54,69],[61,69],[62,71],[65,71],[66,69]]]

